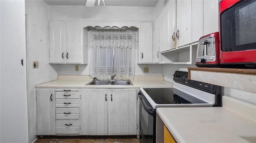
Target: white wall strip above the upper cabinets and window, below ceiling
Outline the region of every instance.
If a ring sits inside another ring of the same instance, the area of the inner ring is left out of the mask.
[[[154,8],[130,6],[49,6],[49,20],[154,21]]]

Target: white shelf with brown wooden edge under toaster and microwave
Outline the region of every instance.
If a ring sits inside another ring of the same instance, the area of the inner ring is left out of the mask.
[[[188,78],[218,86],[256,93],[256,69],[188,67]]]

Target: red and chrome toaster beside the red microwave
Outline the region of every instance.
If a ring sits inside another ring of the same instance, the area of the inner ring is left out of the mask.
[[[199,39],[196,52],[196,67],[221,67],[219,32],[205,35]]]

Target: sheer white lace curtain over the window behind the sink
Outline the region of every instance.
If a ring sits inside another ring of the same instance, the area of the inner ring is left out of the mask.
[[[90,29],[90,76],[98,80],[134,77],[136,34],[126,29]]]

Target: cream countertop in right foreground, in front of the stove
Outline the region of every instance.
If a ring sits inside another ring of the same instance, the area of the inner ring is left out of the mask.
[[[178,143],[256,143],[256,106],[250,104],[250,109],[241,106],[244,108],[241,114],[233,110],[237,107],[157,108],[156,111]]]

